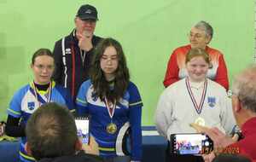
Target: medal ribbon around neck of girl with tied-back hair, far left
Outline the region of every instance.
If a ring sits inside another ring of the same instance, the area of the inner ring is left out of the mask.
[[[44,95],[46,97],[46,99],[47,99],[45,101],[44,98],[38,93],[38,90],[37,90],[34,82],[32,82],[32,90],[31,90],[31,92],[32,92],[32,95],[34,95],[36,97],[36,99],[38,101],[39,107],[41,106],[41,104],[44,104],[44,103],[50,101],[50,99],[51,99],[51,90],[52,90],[52,83],[50,82],[49,83],[49,88],[47,90],[48,92],[47,92],[47,94]]]

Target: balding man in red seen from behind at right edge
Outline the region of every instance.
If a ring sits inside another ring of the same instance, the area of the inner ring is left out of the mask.
[[[236,75],[232,85],[232,107],[236,124],[241,128],[243,139],[234,142],[217,128],[205,129],[214,142],[214,152],[205,155],[212,161],[215,153],[238,153],[256,161],[256,67],[247,67]]]

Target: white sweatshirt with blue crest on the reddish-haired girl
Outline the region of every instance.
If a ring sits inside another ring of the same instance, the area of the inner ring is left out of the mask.
[[[195,133],[195,129],[189,124],[195,123],[195,119],[201,117],[205,120],[207,127],[217,127],[219,130],[229,134],[235,125],[232,113],[232,104],[225,89],[207,78],[207,91],[201,108],[197,113],[187,85],[186,78],[171,84],[160,95],[155,111],[156,129],[160,135],[170,140],[171,134]],[[203,91],[203,84],[190,83],[191,91],[199,105]]]

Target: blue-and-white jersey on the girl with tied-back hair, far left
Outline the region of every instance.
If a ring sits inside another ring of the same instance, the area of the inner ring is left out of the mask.
[[[63,106],[68,107],[71,111],[73,109],[73,102],[71,95],[68,94],[67,90],[59,85],[55,85],[55,82],[52,82],[51,92],[48,91],[39,91],[36,92],[33,89],[33,84],[26,84],[18,90],[12,100],[10,101],[9,108],[7,113],[14,118],[20,119],[20,124],[25,125],[29,117],[34,113],[38,107],[44,104],[48,98],[49,102],[56,102]],[[49,95],[50,96],[47,96]],[[40,103],[39,103],[40,102]],[[25,151],[26,137],[21,137],[20,143],[20,160],[21,161],[34,161],[34,159],[26,154]]]

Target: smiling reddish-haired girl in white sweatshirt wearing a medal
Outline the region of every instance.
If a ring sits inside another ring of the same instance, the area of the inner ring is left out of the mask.
[[[160,95],[156,128],[170,141],[171,134],[195,133],[191,123],[217,127],[230,134],[235,125],[231,101],[220,84],[207,78],[212,68],[204,49],[190,49],[185,60],[187,78],[171,84]],[[201,156],[175,156],[167,149],[166,161],[203,161]]]

